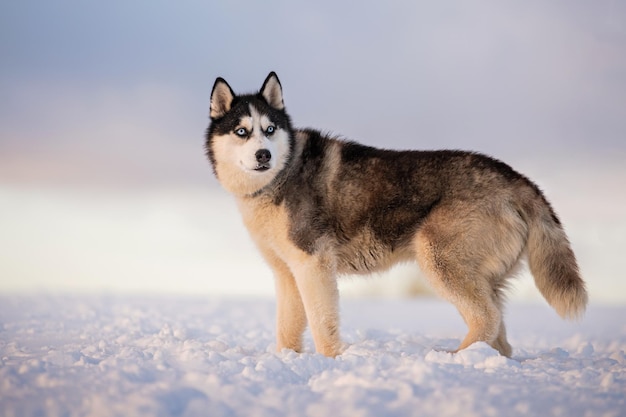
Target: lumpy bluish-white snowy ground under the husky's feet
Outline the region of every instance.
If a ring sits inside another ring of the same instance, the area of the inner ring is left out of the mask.
[[[344,300],[336,359],[274,352],[271,299],[4,296],[0,415],[624,416],[626,307],[508,310],[513,359],[451,355],[443,302]]]

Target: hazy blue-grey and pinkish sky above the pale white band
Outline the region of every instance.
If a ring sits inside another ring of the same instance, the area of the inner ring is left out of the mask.
[[[297,125],[376,146],[626,149],[621,1],[23,0],[0,56],[4,181],[207,181],[215,77],[270,70]]]

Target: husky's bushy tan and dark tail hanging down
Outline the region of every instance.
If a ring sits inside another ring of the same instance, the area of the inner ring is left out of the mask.
[[[535,284],[561,317],[580,318],[587,290],[565,231],[546,201],[534,211],[529,219],[528,264]]]

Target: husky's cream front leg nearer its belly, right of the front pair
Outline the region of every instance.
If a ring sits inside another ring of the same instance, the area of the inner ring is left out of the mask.
[[[339,291],[332,271],[311,260],[294,268],[315,350],[325,356],[341,353]]]

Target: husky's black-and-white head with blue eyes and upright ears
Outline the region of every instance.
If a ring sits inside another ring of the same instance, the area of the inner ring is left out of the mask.
[[[259,93],[242,96],[218,78],[210,117],[207,155],[226,190],[239,196],[254,194],[285,167],[293,133],[275,73],[267,76]]]

